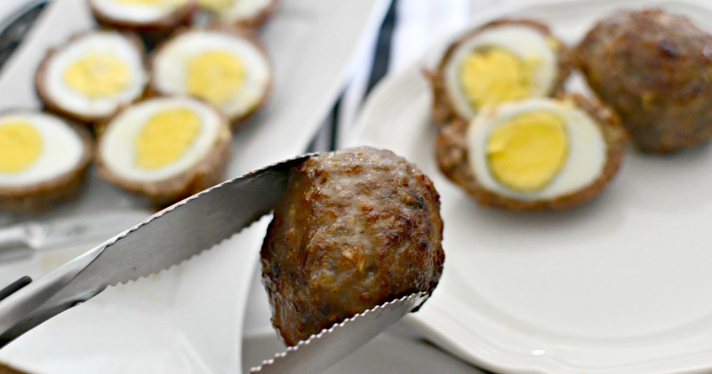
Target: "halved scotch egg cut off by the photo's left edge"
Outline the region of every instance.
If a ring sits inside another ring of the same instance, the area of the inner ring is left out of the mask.
[[[37,212],[75,197],[92,153],[78,125],[36,110],[0,113],[0,210]]]

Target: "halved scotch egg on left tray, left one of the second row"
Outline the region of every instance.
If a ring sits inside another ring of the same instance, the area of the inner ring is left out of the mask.
[[[35,76],[47,108],[85,123],[140,99],[147,81],[141,42],[115,31],[74,36],[48,53]]]

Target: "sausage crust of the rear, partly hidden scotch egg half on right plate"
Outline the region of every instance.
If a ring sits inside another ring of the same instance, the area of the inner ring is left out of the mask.
[[[556,81],[550,95],[562,93],[563,83],[571,72],[569,51],[564,43],[562,43],[562,41],[551,33],[548,26],[541,24],[540,22],[530,19],[497,19],[474,28],[472,31],[466,33],[464,36],[451,43],[444,56],[441,58],[436,70],[423,72],[426,78],[430,81],[430,85],[433,90],[433,117],[438,125],[446,125],[456,119],[467,120],[467,118],[464,118],[462,115],[457,113],[455,105],[453,104],[453,99],[450,97],[450,94],[445,88],[445,67],[449,63],[450,58],[453,56],[455,51],[457,51],[457,49],[469,39],[477,36],[483,31],[486,31],[488,28],[503,25],[521,25],[533,28],[535,31],[547,36],[552,43],[555,43],[557,48],[558,66]]]

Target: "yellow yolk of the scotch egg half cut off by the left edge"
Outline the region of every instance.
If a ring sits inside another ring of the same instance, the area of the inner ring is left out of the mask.
[[[31,123],[9,121],[0,124],[0,172],[21,172],[42,153],[42,135]]]

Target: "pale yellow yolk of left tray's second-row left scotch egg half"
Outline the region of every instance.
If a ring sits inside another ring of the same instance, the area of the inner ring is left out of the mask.
[[[120,93],[130,81],[129,67],[114,53],[86,53],[64,71],[64,82],[90,98]]]

